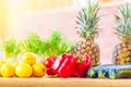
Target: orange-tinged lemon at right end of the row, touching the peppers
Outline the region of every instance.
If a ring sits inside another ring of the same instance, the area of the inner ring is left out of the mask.
[[[41,77],[46,74],[47,70],[46,66],[41,63],[35,63],[33,65],[33,76]]]

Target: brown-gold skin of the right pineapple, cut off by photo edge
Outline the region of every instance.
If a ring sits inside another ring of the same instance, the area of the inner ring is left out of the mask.
[[[112,53],[112,63],[114,64],[131,63],[131,44],[130,42],[120,42],[115,47],[115,50]]]

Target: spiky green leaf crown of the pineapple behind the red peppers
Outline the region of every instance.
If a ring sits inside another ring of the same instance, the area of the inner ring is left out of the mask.
[[[87,1],[87,5],[79,12],[79,15],[76,16],[76,24],[80,28],[78,33],[81,37],[84,38],[94,38],[96,35],[98,35],[98,21],[100,20],[99,16],[97,16],[97,13],[100,9],[100,4],[98,1],[91,2]]]

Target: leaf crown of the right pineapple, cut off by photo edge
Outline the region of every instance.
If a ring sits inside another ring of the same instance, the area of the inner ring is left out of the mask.
[[[131,7],[128,3],[119,7],[119,13],[115,15],[117,21],[116,34],[121,40],[131,40]]]

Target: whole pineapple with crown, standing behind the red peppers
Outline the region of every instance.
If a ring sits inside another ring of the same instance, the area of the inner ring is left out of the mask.
[[[76,29],[81,39],[75,45],[74,54],[79,57],[88,54],[92,58],[93,66],[99,65],[99,47],[94,40],[98,35],[97,24],[99,16],[97,16],[97,13],[99,9],[98,1],[91,2],[88,0],[87,5],[81,9],[76,16],[76,24],[79,26]]]

